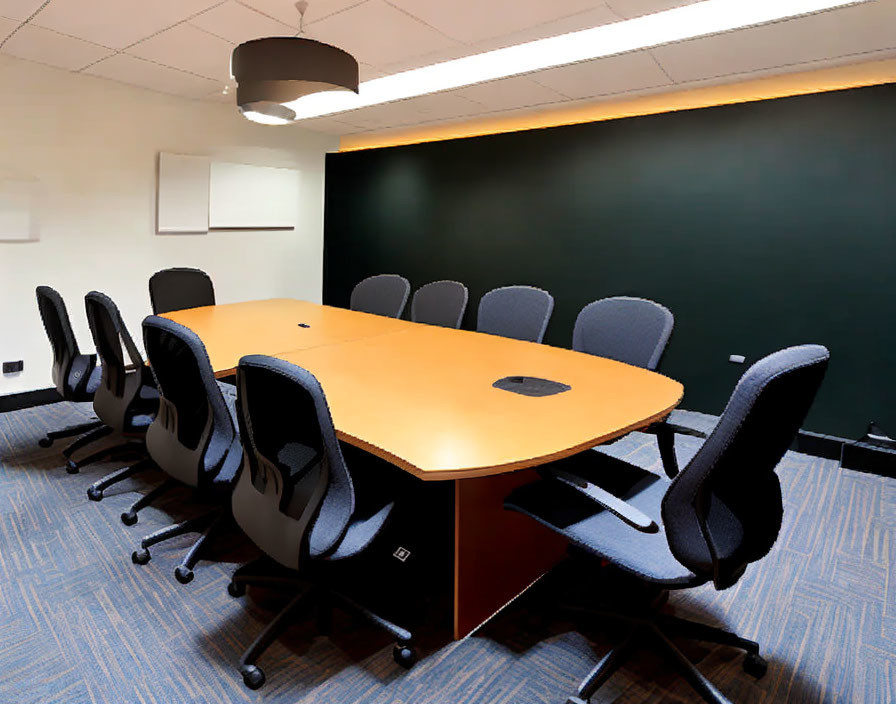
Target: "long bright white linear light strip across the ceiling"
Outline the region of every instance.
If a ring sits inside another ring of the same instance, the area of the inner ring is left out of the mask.
[[[871,0],[704,0],[633,20],[474,54],[366,81],[357,94],[316,93],[284,103],[295,119],[413,98],[553,66],[742,29]]]

